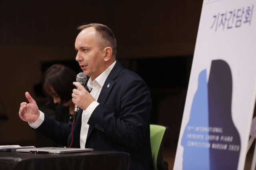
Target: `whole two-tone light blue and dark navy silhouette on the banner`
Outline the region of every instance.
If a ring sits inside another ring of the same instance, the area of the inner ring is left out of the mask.
[[[198,76],[190,119],[181,145],[183,170],[235,170],[240,155],[240,135],[231,114],[232,74],[228,63],[213,60]]]

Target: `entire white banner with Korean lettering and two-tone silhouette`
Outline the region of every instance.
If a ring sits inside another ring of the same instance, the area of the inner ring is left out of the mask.
[[[174,170],[243,170],[256,96],[256,0],[204,0]]]

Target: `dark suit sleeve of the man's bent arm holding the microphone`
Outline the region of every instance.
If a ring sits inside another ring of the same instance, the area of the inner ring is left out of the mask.
[[[148,87],[142,79],[136,78],[120,93],[122,97],[118,115],[98,105],[88,124],[94,128],[95,125],[104,128],[104,131],[96,129],[117,142],[139,148],[150,122],[151,97]]]

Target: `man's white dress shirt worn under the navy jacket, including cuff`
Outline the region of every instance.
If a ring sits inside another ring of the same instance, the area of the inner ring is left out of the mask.
[[[95,99],[94,102],[92,102],[86,110],[82,113],[82,126],[81,126],[81,132],[80,132],[80,148],[85,148],[86,138],[88,134],[89,125],[88,120],[90,119],[90,116],[92,115],[92,112],[94,109],[99,105],[97,102],[98,97],[100,95],[102,86],[104,85],[110,71],[113,69],[114,65],[116,64],[116,61],[112,63],[103,73],[101,73],[94,81],[90,78],[87,83],[88,89],[91,91],[90,94]],[[32,128],[38,128],[44,121],[44,113],[40,111],[40,116],[38,120],[34,123],[28,123],[30,127]]]

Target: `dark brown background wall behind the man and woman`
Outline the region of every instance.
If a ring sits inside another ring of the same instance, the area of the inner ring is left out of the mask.
[[[20,120],[20,103],[29,91],[39,101],[42,65],[75,60],[77,26],[101,23],[114,32],[117,60],[138,73],[152,95],[152,123],[169,127],[167,144],[175,146],[202,0],[0,1],[1,144],[34,144],[36,134]],[[77,67],[78,64],[77,64]]]

